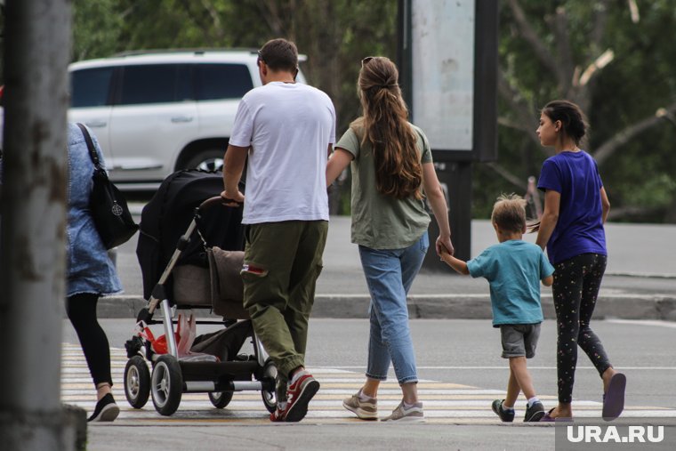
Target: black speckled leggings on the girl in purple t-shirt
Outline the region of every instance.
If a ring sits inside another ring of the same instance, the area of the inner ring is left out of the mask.
[[[599,374],[611,366],[599,337],[589,326],[607,260],[605,255],[581,254],[555,265],[551,289],[557,320],[560,403],[573,400],[578,344]]]

